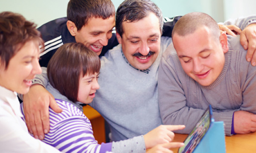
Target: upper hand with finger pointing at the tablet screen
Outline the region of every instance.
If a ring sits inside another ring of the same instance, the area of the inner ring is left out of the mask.
[[[173,130],[182,130],[185,125],[160,125],[144,135],[146,149],[157,144],[169,143],[174,138]]]

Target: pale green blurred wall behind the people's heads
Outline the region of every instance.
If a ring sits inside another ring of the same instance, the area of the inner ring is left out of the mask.
[[[0,0],[0,11],[14,11],[41,26],[66,16],[69,0]],[[117,8],[123,0],[112,0]],[[164,17],[201,11],[217,22],[256,14],[256,0],[152,0],[161,8]]]

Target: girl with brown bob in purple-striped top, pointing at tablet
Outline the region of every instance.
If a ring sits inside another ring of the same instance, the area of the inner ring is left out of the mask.
[[[42,69],[46,70],[44,67]],[[93,101],[95,92],[99,89],[99,70],[99,57],[83,44],[66,43],[58,48],[47,66],[49,82],[46,89],[55,97],[62,112],[55,113],[49,108],[50,130],[45,134],[43,142],[64,153],[154,153],[163,148],[166,152],[171,152],[167,148],[181,146],[178,142],[172,142],[156,145],[150,150],[141,149],[140,146],[145,144],[137,143],[137,139],[141,139],[137,137],[98,144],[80,104]],[[22,104],[21,111],[24,113]]]

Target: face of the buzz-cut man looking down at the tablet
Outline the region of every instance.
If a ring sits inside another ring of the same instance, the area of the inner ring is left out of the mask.
[[[211,36],[209,28],[203,26],[194,33],[180,36],[174,34],[173,43],[181,66],[189,77],[200,85],[210,85],[221,73],[227,49],[227,37],[221,34],[219,40]]]

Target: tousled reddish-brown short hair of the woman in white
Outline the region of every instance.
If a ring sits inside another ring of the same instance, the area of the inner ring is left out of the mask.
[[[5,69],[10,59],[30,40],[38,41],[38,45],[44,48],[44,41],[34,23],[21,14],[10,11],[0,13],[0,59]]]

